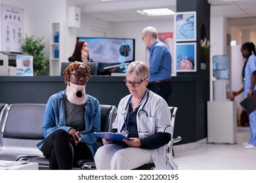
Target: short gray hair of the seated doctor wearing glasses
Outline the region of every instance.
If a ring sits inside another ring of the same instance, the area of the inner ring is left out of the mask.
[[[148,78],[149,77],[148,64],[145,63],[144,61],[131,62],[128,65],[127,71],[125,73],[125,76],[127,75],[133,75],[133,76],[136,76],[137,78],[141,78],[142,80],[144,78]]]

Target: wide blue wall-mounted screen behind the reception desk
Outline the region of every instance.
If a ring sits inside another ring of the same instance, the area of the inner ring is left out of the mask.
[[[106,37],[77,37],[89,44],[89,58],[102,67],[135,61],[135,39]],[[115,72],[125,73],[127,65],[122,65]]]

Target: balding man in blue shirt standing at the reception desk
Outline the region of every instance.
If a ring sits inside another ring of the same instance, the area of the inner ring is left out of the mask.
[[[150,50],[148,90],[160,95],[169,103],[172,92],[171,52],[166,44],[158,40],[158,31],[155,27],[145,27],[142,30],[142,40]]]

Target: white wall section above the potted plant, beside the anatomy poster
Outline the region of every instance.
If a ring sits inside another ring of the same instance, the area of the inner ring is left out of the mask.
[[[66,3],[63,0],[0,0],[1,5],[24,9],[24,37],[44,37],[45,57],[49,59],[49,35],[51,22],[66,21]],[[1,37],[0,37],[1,41]],[[1,46],[0,46],[0,50]]]

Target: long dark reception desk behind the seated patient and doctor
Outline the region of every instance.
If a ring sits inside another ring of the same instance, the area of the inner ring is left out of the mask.
[[[115,105],[129,94],[123,84],[124,76],[93,76],[86,93],[100,104]],[[172,78],[173,93],[169,106],[178,107],[174,137],[182,137],[177,144],[196,142],[207,137],[207,101],[209,95],[196,76]],[[204,86],[205,87],[205,86]],[[65,90],[63,76],[0,76],[0,103],[47,103],[48,98]]]

